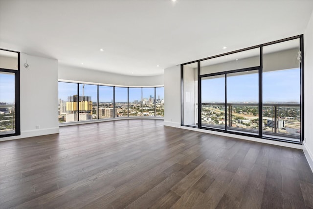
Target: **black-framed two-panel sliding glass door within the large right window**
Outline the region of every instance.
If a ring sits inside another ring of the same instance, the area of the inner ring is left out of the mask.
[[[201,77],[201,127],[259,134],[259,67]]]

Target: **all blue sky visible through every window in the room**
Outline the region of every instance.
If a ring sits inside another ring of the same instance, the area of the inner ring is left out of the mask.
[[[263,73],[263,101],[264,102],[299,102],[300,101],[300,70],[276,70]],[[82,95],[83,84],[80,84]],[[202,102],[224,102],[224,78],[205,79],[201,84]],[[129,101],[141,100],[141,88],[129,88]],[[96,85],[85,85],[85,96],[97,98]],[[143,98],[154,97],[154,88],[143,88]],[[59,82],[59,98],[67,101],[67,96],[77,94],[77,84]],[[164,98],[163,88],[156,88],[156,99]],[[14,102],[14,75],[0,73],[0,102]],[[99,86],[99,101],[111,102],[113,87]],[[115,100],[127,102],[127,88],[115,88]],[[227,77],[228,102],[257,102],[258,75],[251,73]]]

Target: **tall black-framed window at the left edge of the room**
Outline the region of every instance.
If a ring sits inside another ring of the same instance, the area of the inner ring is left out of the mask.
[[[0,49],[0,137],[20,134],[20,52]]]

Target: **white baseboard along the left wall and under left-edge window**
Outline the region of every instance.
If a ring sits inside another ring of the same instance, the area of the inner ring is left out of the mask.
[[[12,140],[12,139],[23,139],[23,138],[28,138],[28,137],[37,137],[37,136],[43,136],[43,135],[48,135],[48,134],[58,134],[58,133],[59,133],[59,127],[34,129],[34,130],[28,130],[28,131],[21,131],[21,135],[19,136],[0,138],[0,141],[6,141],[6,140]]]

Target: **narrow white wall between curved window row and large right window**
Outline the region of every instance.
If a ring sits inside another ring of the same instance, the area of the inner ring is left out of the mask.
[[[180,126],[180,66],[164,69],[164,125]]]

